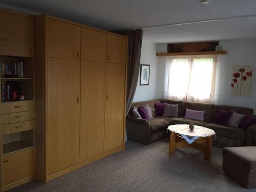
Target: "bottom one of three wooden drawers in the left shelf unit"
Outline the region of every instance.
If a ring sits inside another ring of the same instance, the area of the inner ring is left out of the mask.
[[[1,127],[2,135],[35,129],[35,120],[6,124]]]

